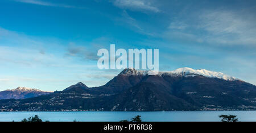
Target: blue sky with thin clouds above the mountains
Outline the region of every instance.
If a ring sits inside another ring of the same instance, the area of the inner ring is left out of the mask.
[[[256,85],[256,1],[1,0],[0,91],[106,84],[97,51],[159,49],[159,70],[222,72]]]

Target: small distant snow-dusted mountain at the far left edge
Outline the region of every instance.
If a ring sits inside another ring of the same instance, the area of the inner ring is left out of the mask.
[[[0,92],[0,99],[24,99],[37,97],[39,95],[49,94],[51,92],[43,92],[39,89],[31,89],[25,87],[18,87],[16,89],[5,90]]]

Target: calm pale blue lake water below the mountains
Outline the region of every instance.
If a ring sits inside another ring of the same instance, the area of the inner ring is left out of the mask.
[[[221,114],[237,115],[239,121],[256,121],[256,111],[152,111],[152,112],[127,112],[127,111],[82,111],[82,112],[0,112],[0,121],[19,122],[24,118],[38,115],[43,120],[51,122],[118,122],[122,119],[130,120],[136,115],[141,115],[145,122],[218,122]]]

